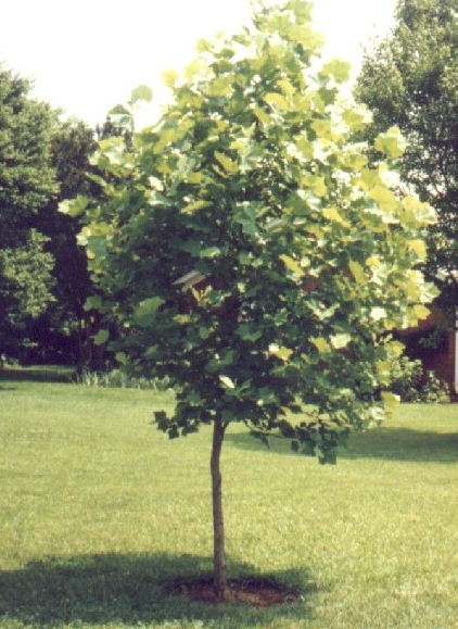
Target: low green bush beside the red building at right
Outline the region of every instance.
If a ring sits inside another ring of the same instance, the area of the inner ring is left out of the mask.
[[[407,356],[393,361],[391,367],[391,390],[403,402],[435,402],[447,404],[450,392],[447,382],[434,372],[424,374],[421,361]]]

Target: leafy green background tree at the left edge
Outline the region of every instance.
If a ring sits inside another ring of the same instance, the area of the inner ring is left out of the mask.
[[[52,301],[52,257],[36,230],[55,193],[50,162],[55,115],[29,98],[30,84],[0,66],[0,344]]]

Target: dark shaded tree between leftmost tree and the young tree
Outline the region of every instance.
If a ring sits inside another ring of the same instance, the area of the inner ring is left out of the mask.
[[[99,367],[100,351],[92,335],[99,316],[85,309],[92,292],[87,257],[77,243],[81,225],[59,212],[59,202],[77,194],[97,194],[99,186],[90,179],[94,168],[89,163],[97,148],[94,131],[85,123],[71,119],[60,124],[51,140],[51,164],[55,171],[56,196],[37,216],[37,227],[48,236],[48,249],[54,266],[54,302],[44,315],[31,324],[31,337],[47,343],[48,355],[79,367]]]

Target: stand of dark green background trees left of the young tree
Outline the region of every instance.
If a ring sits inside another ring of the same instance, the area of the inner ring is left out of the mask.
[[[97,140],[118,129],[110,118],[96,129],[62,122],[30,89],[0,66],[0,352],[101,368],[98,315],[85,309],[93,290],[81,226],[59,203],[98,194],[89,159]]]

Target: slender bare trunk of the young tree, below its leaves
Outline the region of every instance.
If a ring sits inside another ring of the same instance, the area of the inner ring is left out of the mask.
[[[221,418],[216,417],[213,426],[213,448],[211,458],[212,470],[212,498],[213,498],[213,584],[218,601],[224,601],[227,595],[226,569],[225,569],[225,525],[222,517],[222,492],[220,454],[226,427]]]

